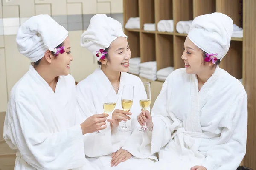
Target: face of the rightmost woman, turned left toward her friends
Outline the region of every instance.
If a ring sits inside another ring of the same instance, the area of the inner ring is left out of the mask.
[[[202,74],[212,66],[212,62],[204,62],[203,51],[188,37],[184,42],[184,51],[181,56],[184,60],[187,74]]]

